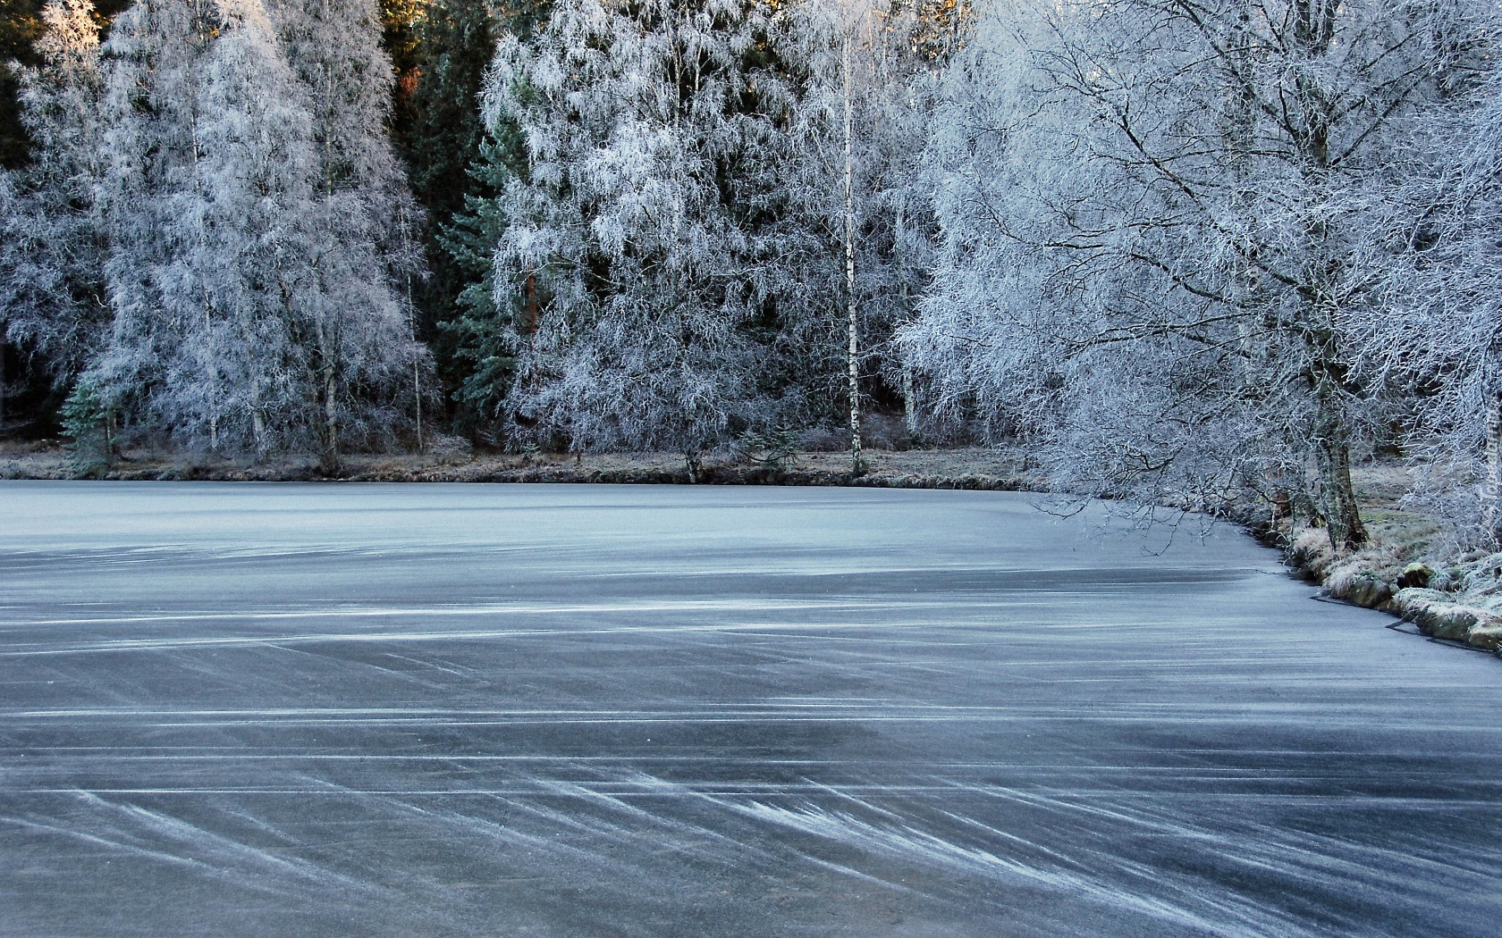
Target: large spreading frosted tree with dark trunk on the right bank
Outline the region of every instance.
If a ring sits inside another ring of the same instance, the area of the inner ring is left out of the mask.
[[[1245,510],[1290,497],[1337,546],[1409,119],[1485,39],[1484,2],[1006,3],[951,71],[937,288],[906,333],[1060,480]],[[1284,495],[1286,494],[1286,495]]]

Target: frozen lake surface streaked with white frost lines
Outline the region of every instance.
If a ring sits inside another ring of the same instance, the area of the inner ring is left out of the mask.
[[[1502,932],[1502,662],[1093,524],[0,483],[0,933]]]

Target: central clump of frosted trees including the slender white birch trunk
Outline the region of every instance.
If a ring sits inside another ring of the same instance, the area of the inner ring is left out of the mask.
[[[688,450],[898,399],[886,341],[931,228],[921,32],[904,6],[605,3],[503,39],[488,146],[526,158],[451,231],[461,258],[500,245],[463,398],[503,380],[521,437]]]

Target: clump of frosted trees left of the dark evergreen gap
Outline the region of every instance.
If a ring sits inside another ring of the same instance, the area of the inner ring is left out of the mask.
[[[84,0],[47,21],[41,158],[8,188],[9,336],[191,446],[333,464],[341,434],[389,434],[425,351],[374,8],[141,0],[102,54]]]

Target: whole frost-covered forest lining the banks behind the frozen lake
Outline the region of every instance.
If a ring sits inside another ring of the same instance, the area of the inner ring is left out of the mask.
[[[0,3],[0,435],[859,473],[876,414],[1502,531],[1496,0]]]

